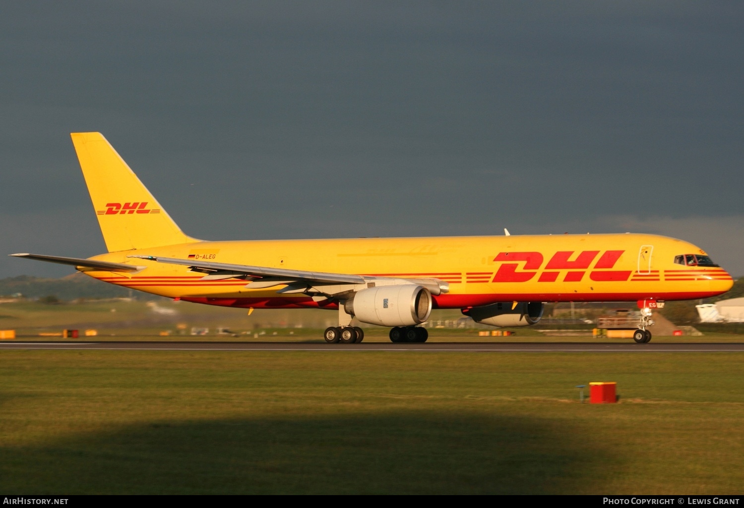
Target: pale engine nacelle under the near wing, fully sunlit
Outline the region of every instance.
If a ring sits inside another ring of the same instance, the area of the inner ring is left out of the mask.
[[[432,293],[417,284],[368,287],[344,302],[344,310],[371,325],[419,325],[432,313]]]

